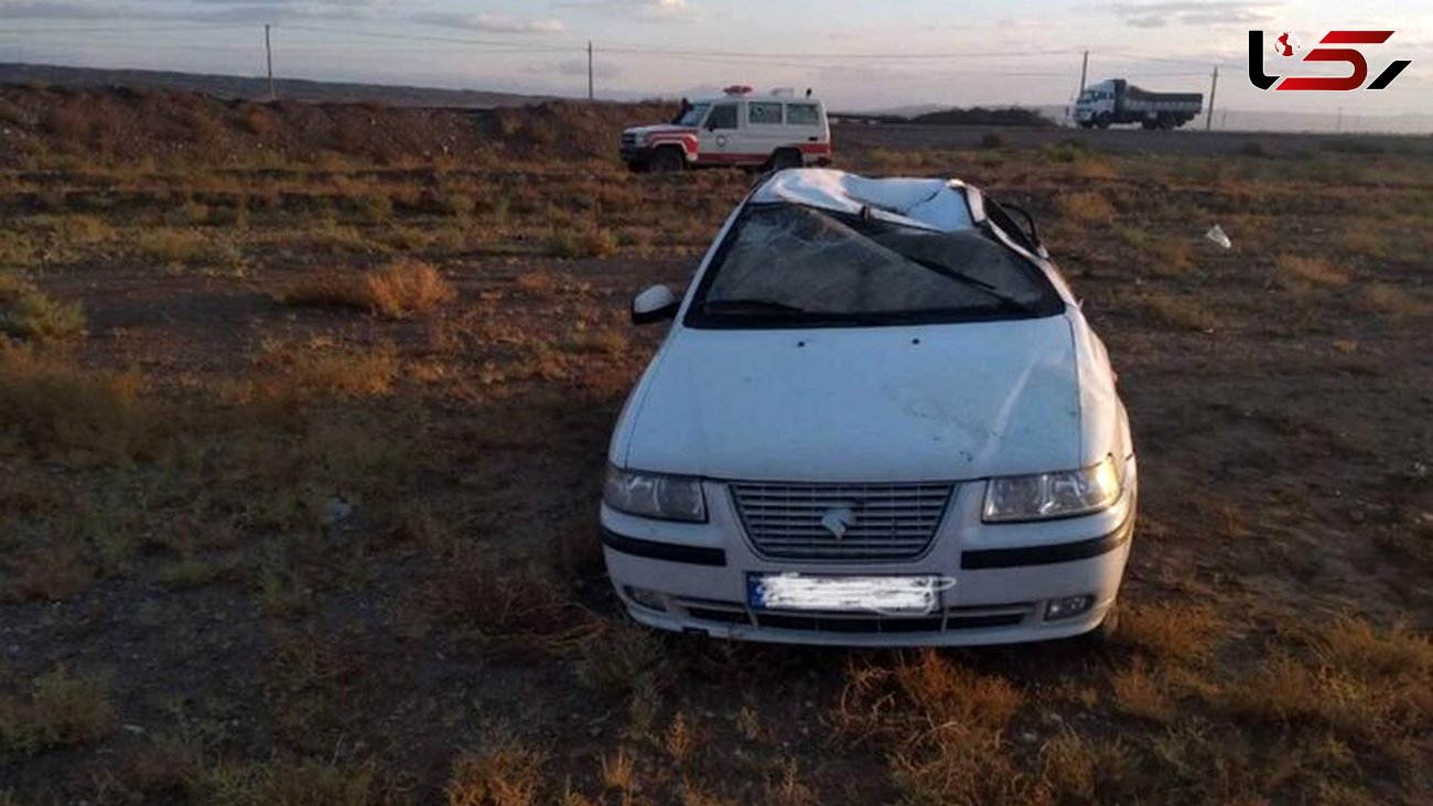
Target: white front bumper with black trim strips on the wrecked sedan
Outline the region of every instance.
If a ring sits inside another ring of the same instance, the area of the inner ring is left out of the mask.
[[[602,508],[603,554],[618,597],[649,627],[718,638],[825,645],[976,645],[1088,632],[1119,592],[1135,531],[1135,462],[1121,501],[1095,515],[1035,523],[980,522],[983,483],[957,488],[930,548],[900,562],[794,562],[758,555],[725,485],[708,482],[706,523],[668,523]],[[941,575],[929,615],[755,610],[747,577]],[[636,591],[638,598],[633,598]],[[1055,599],[1091,597],[1073,617],[1046,618]]]

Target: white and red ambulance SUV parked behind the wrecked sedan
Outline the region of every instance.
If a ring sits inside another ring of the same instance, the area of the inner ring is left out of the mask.
[[[825,106],[791,89],[752,95],[729,86],[684,108],[671,123],[622,132],[622,161],[632,171],[659,174],[688,168],[801,168],[831,162]]]

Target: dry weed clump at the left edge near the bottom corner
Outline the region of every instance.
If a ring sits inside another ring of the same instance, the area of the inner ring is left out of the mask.
[[[29,697],[0,696],[0,750],[34,753],[85,744],[115,729],[109,680],[64,667],[34,678]]]

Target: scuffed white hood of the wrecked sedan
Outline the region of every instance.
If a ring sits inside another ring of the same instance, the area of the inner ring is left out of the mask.
[[[674,334],[612,456],[716,479],[957,480],[1080,465],[1063,316]]]

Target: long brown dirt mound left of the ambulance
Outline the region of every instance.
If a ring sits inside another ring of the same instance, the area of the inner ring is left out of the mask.
[[[656,103],[546,102],[494,110],[378,103],[255,103],[198,93],[0,86],[0,168],[69,158],[264,165],[358,159],[486,162],[616,158],[622,128],[669,118]]]

